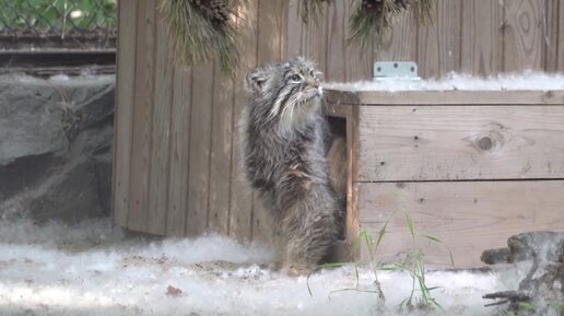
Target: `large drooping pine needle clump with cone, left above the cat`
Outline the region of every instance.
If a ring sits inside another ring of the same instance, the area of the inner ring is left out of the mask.
[[[245,0],[162,0],[161,10],[168,25],[175,57],[185,66],[219,60],[222,72],[237,69],[238,5]]]

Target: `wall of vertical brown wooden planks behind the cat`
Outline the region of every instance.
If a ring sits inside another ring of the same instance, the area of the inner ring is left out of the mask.
[[[328,81],[369,79],[374,60],[415,60],[424,77],[564,70],[562,1],[438,0],[433,25],[406,15],[376,51],[348,44],[351,1],[333,1],[318,25],[304,25],[298,0],[251,0],[238,21],[242,70],[228,80],[216,63],[174,65],[157,0],[120,0],[115,223],[160,235],[269,236],[238,164],[243,74],[257,65],[307,56]]]

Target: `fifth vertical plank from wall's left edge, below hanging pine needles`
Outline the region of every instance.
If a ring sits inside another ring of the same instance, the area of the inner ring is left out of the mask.
[[[199,235],[208,229],[213,68],[204,65],[192,69],[187,235]]]

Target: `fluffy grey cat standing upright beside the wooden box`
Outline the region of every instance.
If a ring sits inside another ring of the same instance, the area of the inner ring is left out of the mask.
[[[289,273],[314,269],[338,234],[319,75],[313,62],[296,59],[246,77],[239,125],[245,173],[279,224],[279,264]]]

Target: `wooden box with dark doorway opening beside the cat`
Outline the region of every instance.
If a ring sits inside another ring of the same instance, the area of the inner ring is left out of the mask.
[[[329,90],[330,116],[346,120],[345,245],[366,230],[376,258],[478,267],[484,249],[513,234],[564,230],[564,91]],[[364,243],[361,243],[364,244]],[[352,258],[351,258],[352,257]]]

